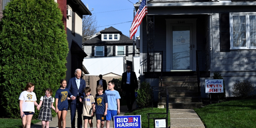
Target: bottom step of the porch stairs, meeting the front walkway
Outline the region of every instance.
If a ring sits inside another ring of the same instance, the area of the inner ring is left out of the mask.
[[[200,108],[203,105],[202,102],[190,102],[190,103],[169,103],[169,109],[194,109]],[[158,103],[158,108],[166,108],[166,103]]]

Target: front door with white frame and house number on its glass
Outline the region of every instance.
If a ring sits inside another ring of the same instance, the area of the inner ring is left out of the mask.
[[[166,20],[167,71],[196,71],[196,19]]]

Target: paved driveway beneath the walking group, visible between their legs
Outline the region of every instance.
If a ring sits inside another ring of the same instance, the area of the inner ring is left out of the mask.
[[[132,109],[136,108],[136,102],[133,103],[133,107]],[[124,115],[125,113],[127,113],[127,106],[120,106],[120,116]],[[83,117],[82,117],[83,119]],[[76,118],[75,118],[75,127],[77,128],[77,113],[76,113]],[[31,128],[42,128],[42,123],[38,122],[37,124],[31,125]],[[87,124],[87,127],[89,128],[89,124]],[[93,117],[93,127],[96,128],[96,117]],[[106,121],[104,123],[104,128],[106,127]],[[58,117],[56,115],[56,117],[53,117],[53,121],[50,122],[50,128],[58,128]],[[66,128],[71,128],[71,117],[70,117],[70,110],[68,110],[67,116],[66,116]],[[84,128],[84,120],[83,120],[83,126],[82,128]],[[113,122],[111,121],[110,123],[110,128],[113,128]]]

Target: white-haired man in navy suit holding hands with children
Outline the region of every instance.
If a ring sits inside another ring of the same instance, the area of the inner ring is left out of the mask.
[[[80,78],[82,75],[81,69],[75,70],[75,77],[72,77],[68,81],[67,88],[71,92],[72,96],[76,97],[76,100],[70,103],[70,114],[71,114],[71,127],[75,128],[75,112],[77,109],[77,128],[82,128],[82,114],[83,114],[83,103],[79,101],[79,97],[84,97],[83,91],[85,86],[85,80]],[[72,97],[70,96],[70,97]]]

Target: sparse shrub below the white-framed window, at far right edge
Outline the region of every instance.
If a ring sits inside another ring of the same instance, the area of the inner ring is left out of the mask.
[[[255,94],[255,87],[253,82],[248,79],[246,80],[241,80],[240,81],[236,81],[236,83],[234,83],[234,86],[232,87],[233,91],[230,91],[231,94],[235,97],[241,97],[241,98],[246,98],[250,95]]]

